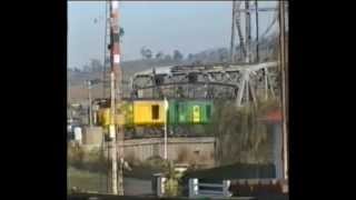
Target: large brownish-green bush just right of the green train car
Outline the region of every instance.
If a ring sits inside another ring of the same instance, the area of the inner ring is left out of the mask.
[[[216,159],[220,164],[267,163],[269,140],[259,118],[279,107],[278,101],[259,102],[258,107],[237,108],[234,101],[216,102],[212,123],[206,131],[217,138]]]

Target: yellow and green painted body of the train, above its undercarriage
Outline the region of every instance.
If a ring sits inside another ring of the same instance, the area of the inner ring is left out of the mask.
[[[115,123],[127,128],[207,124],[211,122],[214,103],[209,100],[125,100],[116,109],[121,114],[116,116]],[[109,103],[100,106],[97,119],[98,126],[110,124]]]

